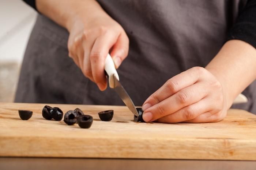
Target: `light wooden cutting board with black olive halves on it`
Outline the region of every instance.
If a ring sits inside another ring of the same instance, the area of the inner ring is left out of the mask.
[[[137,123],[124,106],[79,107],[94,118],[90,129],[42,117],[45,104],[0,103],[0,156],[256,160],[256,115],[229,110],[218,123]],[[21,120],[18,109],[33,111]],[[110,122],[98,112],[114,110]]]

